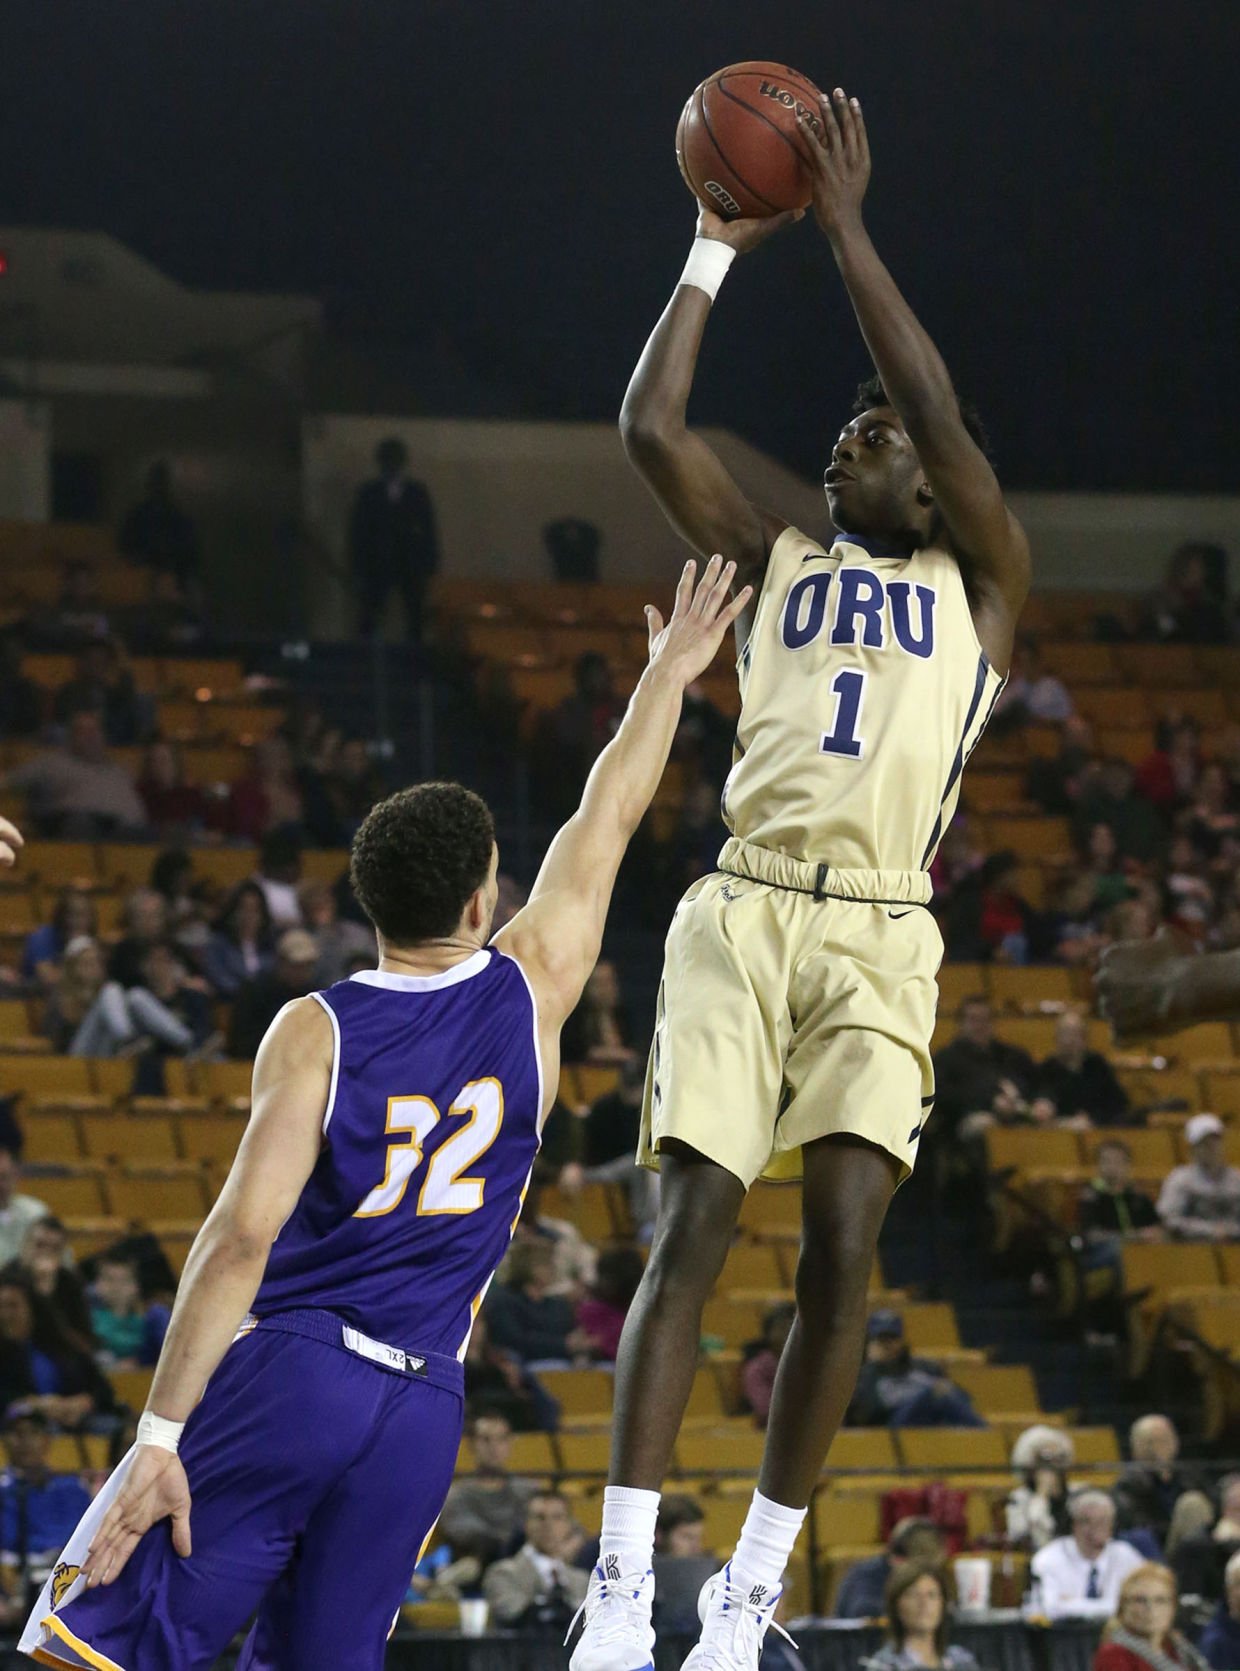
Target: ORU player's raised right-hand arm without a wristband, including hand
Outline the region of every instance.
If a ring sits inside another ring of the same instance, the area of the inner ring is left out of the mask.
[[[831,241],[874,369],[926,471],[969,588],[981,647],[1006,672],[1029,592],[1024,530],[964,426],[943,356],[879,261],[862,222],[869,139],[861,100],[847,99],[839,87],[824,97],[822,130],[819,140],[800,122],[814,159],[814,216]]]

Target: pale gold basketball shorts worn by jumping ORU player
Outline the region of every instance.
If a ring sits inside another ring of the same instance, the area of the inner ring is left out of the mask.
[[[912,1171],[934,1103],[943,939],[922,871],[836,871],[732,839],[667,934],[638,1161],[677,1138],[755,1178],[851,1133]]]

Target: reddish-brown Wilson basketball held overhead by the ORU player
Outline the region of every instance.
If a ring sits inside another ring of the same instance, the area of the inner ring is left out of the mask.
[[[817,87],[787,63],[730,63],[689,95],[675,150],[685,185],[725,221],[804,209],[811,185],[804,117],[821,134]]]

